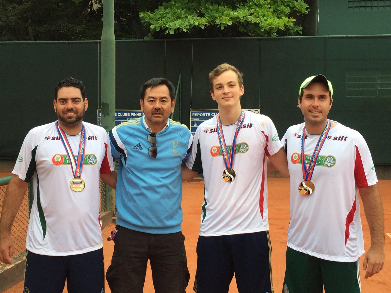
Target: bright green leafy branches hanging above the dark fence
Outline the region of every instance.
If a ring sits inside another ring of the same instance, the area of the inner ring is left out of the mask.
[[[171,0],[140,18],[150,28],[146,38],[295,36],[302,27],[293,16],[307,8],[303,0]]]

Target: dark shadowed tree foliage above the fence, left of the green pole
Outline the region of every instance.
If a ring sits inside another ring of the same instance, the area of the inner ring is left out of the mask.
[[[0,41],[100,39],[93,0],[0,0]]]

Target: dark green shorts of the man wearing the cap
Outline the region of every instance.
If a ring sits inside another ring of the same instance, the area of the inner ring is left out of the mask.
[[[360,259],[326,261],[287,248],[283,293],[361,293]]]

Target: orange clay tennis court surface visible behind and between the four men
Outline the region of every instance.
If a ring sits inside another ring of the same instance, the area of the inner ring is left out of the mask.
[[[190,282],[186,292],[193,292],[193,283],[197,258],[195,247],[198,238],[199,221],[201,215],[201,205],[203,204],[203,183],[204,182],[185,182],[183,183],[183,223],[182,231],[186,236],[185,246],[187,252],[187,264],[190,271]],[[382,195],[384,214],[385,214],[385,229],[386,233],[391,236],[391,180],[379,180],[378,188]],[[289,179],[285,178],[268,178],[269,192],[269,226],[270,237],[272,243],[272,269],[273,269],[273,284],[274,292],[282,292],[282,282],[285,272],[285,250],[286,250],[286,233],[289,223]],[[364,230],[364,241],[366,249],[370,245],[370,236],[368,224],[365,220],[364,209],[361,205],[361,217]],[[107,242],[111,230],[115,228],[114,224],[110,224],[103,230],[104,239],[104,259],[105,267],[110,264],[111,255],[114,249],[113,241]],[[391,237],[387,234],[386,237],[386,263],[384,269],[377,275],[365,280],[365,272],[361,271],[361,288],[362,292],[389,293],[391,292]],[[364,255],[361,257],[361,263],[364,260]],[[6,293],[22,293],[23,282],[17,284]],[[66,289],[64,292],[67,292]],[[106,284],[106,293],[111,292]],[[145,293],[153,293],[151,270],[148,268],[144,286]],[[235,278],[231,282],[230,293],[236,293]],[[213,292],[211,292],[213,293]]]

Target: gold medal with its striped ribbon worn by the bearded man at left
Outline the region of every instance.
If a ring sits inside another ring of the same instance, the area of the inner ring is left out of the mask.
[[[84,150],[86,148],[86,130],[84,128],[84,125],[81,127],[81,137],[79,143],[79,151],[77,152],[77,161],[75,160],[75,156],[72,152],[72,148],[69,144],[69,141],[66,138],[65,132],[58,125],[58,121],[56,122],[56,128],[58,136],[60,137],[60,140],[65,148],[66,154],[68,155],[69,162],[72,168],[73,178],[71,179],[69,186],[73,191],[82,191],[86,186],[83,178],[81,178],[81,172],[83,170],[84,163]]]

